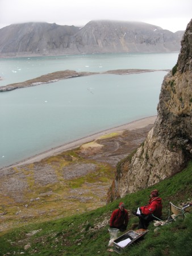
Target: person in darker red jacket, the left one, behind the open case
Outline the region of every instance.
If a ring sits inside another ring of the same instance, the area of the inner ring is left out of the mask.
[[[112,212],[110,218],[110,228],[119,229],[120,232],[123,232],[127,229],[128,224],[128,212],[124,207],[123,203],[119,203],[119,209],[116,209]]]

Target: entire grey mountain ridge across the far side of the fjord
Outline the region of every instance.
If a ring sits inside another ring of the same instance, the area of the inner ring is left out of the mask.
[[[0,29],[0,56],[179,52],[183,33],[114,20],[92,20],[82,28],[56,23],[12,24]]]

